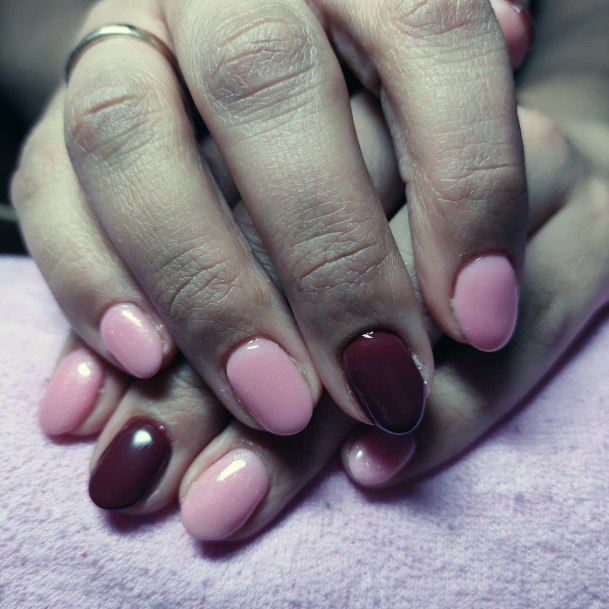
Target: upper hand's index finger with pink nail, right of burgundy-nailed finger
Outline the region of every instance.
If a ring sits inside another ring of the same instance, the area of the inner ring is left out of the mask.
[[[454,339],[501,348],[516,322],[527,197],[509,57],[490,3],[323,5],[378,70],[427,306]]]

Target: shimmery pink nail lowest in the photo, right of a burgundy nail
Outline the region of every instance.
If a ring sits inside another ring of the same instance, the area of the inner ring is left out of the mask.
[[[228,537],[247,522],[270,483],[258,455],[245,449],[231,451],[203,472],[186,494],[186,530],[207,541]]]

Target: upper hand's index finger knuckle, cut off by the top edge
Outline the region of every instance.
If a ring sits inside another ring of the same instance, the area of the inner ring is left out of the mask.
[[[469,29],[488,19],[479,0],[382,0],[381,23],[414,40]]]

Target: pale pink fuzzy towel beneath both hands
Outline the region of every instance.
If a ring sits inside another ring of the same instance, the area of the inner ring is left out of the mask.
[[[2,609],[607,609],[609,316],[517,416],[415,488],[366,493],[336,462],[239,546],[87,496],[90,442],[36,408],[66,334],[34,265],[0,260]]]

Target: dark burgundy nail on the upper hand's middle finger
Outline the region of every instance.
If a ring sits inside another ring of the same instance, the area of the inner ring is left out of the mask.
[[[425,409],[425,381],[404,341],[389,332],[362,334],[343,351],[343,371],[364,412],[389,433],[413,431]]]

